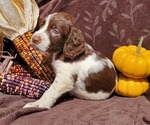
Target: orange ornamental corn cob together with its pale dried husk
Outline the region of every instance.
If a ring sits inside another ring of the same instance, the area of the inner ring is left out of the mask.
[[[39,79],[53,82],[54,73],[46,56],[30,44],[39,17],[35,0],[0,0],[0,30],[12,40],[17,51]]]

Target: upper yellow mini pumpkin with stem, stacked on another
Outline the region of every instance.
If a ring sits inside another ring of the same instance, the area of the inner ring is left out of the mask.
[[[145,78],[150,75],[150,51],[141,47],[143,37],[138,46],[121,46],[113,53],[113,63],[124,75],[131,78]]]

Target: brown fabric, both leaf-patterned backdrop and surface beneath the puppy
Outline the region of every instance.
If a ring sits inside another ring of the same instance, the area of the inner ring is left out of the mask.
[[[86,41],[97,51],[112,58],[122,45],[150,49],[150,0],[36,0],[40,7],[39,23],[49,13],[72,14]],[[81,100],[70,95],[52,109],[22,109],[35,99],[0,93],[0,125],[148,125],[150,92],[134,98],[115,93],[103,101]]]

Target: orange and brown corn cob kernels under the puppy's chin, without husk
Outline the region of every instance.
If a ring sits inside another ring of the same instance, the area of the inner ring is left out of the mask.
[[[27,32],[22,36],[18,36],[13,40],[13,43],[25,60],[27,65],[33,70],[37,78],[48,81],[50,83],[54,80],[54,73],[52,67],[46,63],[46,55],[35,50],[30,44],[32,33]]]

